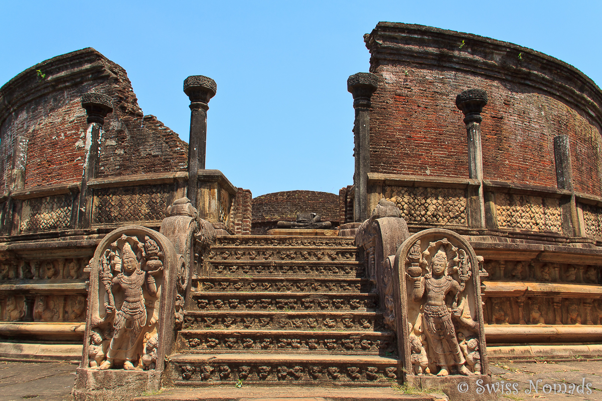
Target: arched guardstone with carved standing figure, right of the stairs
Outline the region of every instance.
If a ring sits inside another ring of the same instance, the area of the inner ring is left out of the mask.
[[[490,383],[491,373],[479,263],[470,243],[453,231],[433,228],[406,239],[391,259],[385,266],[393,269],[391,277],[399,277],[399,294],[389,294],[396,299],[385,305],[395,309],[389,313],[396,316],[406,381],[479,399],[477,381]]]

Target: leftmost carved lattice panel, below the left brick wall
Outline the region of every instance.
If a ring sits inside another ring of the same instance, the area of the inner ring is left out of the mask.
[[[71,222],[73,197],[70,194],[23,201],[19,231],[60,230]]]

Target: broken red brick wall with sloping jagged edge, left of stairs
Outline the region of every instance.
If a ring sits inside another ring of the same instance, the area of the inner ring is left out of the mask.
[[[2,192],[16,136],[29,139],[25,188],[81,180],[87,128],[81,96],[90,91],[107,94],[114,105],[102,133],[99,177],[186,170],[186,142],[154,116],[143,118],[125,70],[88,47],[43,61],[0,89]]]

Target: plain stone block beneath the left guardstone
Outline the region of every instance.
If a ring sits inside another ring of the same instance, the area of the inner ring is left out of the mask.
[[[71,394],[75,401],[127,401],[160,390],[162,373],[159,370],[78,368]]]

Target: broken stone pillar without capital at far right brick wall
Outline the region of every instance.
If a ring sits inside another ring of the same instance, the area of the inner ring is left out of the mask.
[[[556,184],[558,189],[571,191],[570,197],[560,198],[562,231],[566,236],[585,237],[585,229],[580,224],[577,215],[577,202],[573,191],[571,147],[568,135],[554,136],[554,164],[556,164]]]

